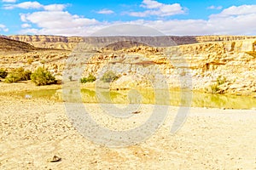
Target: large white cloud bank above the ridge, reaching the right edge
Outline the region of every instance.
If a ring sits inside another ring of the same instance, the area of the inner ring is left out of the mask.
[[[242,5],[225,8],[208,20],[144,20],[142,24],[168,35],[255,35],[255,19],[255,5]]]

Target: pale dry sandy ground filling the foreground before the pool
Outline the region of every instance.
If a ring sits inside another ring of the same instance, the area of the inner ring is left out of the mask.
[[[0,83],[1,92],[25,87]],[[125,122],[104,116],[99,105],[85,107],[102,126],[124,130],[147,120],[154,105],[141,105]],[[256,169],[256,111],[191,108],[172,135],[177,109],[170,106],[163,126],[142,143],[109,148],[78,133],[63,103],[3,95],[0,169]],[[61,161],[49,162],[53,156]]]

